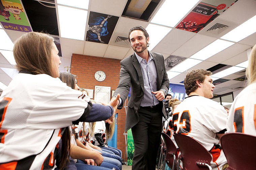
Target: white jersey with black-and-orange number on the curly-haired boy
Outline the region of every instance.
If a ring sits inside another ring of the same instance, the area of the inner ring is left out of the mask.
[[[215,170],[221,170],[227,162],[216,135],[225,131],[226,121],[227,112],[223,106],[202,96],[185,98],[172,115],[174,133],[188,135],[199,141],[211,153],[211,166]]]

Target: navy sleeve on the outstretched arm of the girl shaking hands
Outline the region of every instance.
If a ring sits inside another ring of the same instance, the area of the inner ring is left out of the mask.
[[[102,120],[107,120],[114,113],[114,109],[107,105],[102,104],[92,104],[88,102],[88,106],[85,109],[84,114],[76,121],[73,121],[73,124],[77,125],[79,122],[98,122]]]

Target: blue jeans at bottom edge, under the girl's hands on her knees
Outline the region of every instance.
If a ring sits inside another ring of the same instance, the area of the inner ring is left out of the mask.
[[[101,163],[100,166],[93,166],[93,165],[87,165],[84,161],[77,159],[77,162],[75,163],[75,166],[77,168],[77,170],[109,170],[109,169],[117,169],[120,170],[116,165],[114,164],[110,164],[108,162],[104,161],[104,157],[103,157],[103,162]]]

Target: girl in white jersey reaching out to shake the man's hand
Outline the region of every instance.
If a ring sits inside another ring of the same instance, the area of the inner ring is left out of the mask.
[[[62,170],[69,162],[66,127],[72,121],[110,118],[117,101],[92,105],[82,92],[60,81],[58,49],[47,34],[24,34],[15,41],[13,55],[19,74],[0,96],[0,169]],[[61,158],[56,159],[57,153]],[[97,165],[102,161],[101,156]]]

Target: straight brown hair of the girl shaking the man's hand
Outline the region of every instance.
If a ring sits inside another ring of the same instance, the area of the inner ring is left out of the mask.
[[[53,76],[53,42],[53,37],[38,32],[29,32],[18,38],[13,46],[17,70]]]

